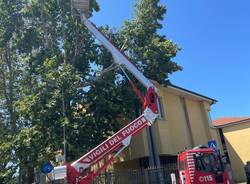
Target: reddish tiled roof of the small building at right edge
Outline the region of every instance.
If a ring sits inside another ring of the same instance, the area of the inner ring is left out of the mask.
[[[213,125],[215,127],[224,127],[246,122],[250,122],[250,117],[223,117],[214,120]]]

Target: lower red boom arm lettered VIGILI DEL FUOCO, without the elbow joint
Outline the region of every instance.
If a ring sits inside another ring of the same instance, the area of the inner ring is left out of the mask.
[[[92,149],[90,152],[79,158],[77,161],[67,165],[67,180],[71,184],[76,184],[76,178],[81,177],[82,171],[88,169],[91,165],[110,155],[109,161],[98,171],[89,172],[80,183],[88,184],[96,178],[106,167],[115,159],[115,157],[124,150],[133,136],[141,132],[145,127],[150,126],[151,122],[142,114],[136,120],[129,123],[123,129],[118,131],[112,137]]]

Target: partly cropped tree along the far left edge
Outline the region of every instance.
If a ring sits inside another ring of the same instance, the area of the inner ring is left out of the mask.
[[[18,132],[21,63],[16,39],[23,25],[21,0],[0,1],[0,183],[16,183],[18,159],[11,142]]]

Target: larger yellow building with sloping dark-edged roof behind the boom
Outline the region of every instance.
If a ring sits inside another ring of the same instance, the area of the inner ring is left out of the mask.
[[[161,165],[175,163],[176,156],[185,148],[207,145],[211,139],[219,141],[216,130],[210,128],[209,116],[210,106],[216,100],[174,85],[155,85],[160,117],[152,129],[144,130],[132,139],[123,154],[123,162],[114,164],[116,170],[146,168],[152,162],[149,157],[152,154],[157,155]],[[151,137],[154,144],[150,143]]]

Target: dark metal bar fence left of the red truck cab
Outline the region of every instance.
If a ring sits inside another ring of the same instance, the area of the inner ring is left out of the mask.
[[[160,168],[106,172],[101,174],[93,184],[171,184],[171,174],[178,183],[176,164],[168,164]]]

